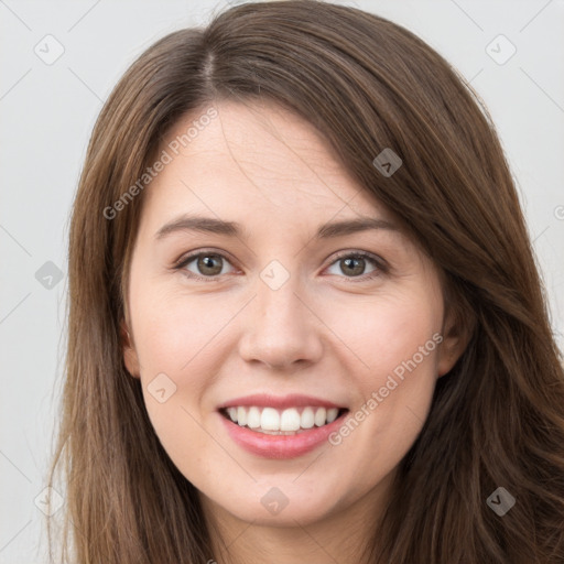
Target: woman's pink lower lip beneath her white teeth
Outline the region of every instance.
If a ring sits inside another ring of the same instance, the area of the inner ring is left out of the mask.
[[[321,427],[312,427],[295,435],[268,435],[249,427],[242,427],[218,413],[230,437],[249,453],[264,458],[295,458],[302,456],[328,440],[347,415],[345,411],[333,423]]]

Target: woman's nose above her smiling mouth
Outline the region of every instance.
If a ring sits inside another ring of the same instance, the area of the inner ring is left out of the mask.
[[[323,323],[304,292],[290,280],[272,290],[258,281],[257,295],[246,307],[239,354],[248,362],[291,371],[322,357]]]

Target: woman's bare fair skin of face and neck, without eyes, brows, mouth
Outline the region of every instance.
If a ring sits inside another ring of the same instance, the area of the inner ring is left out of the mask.
[[[436,379],[465,343],[445,318],[437,271],[402,231],[314,238],[327,221],[394,218],[343,170],[311,124],[274,105],[214,106],[219,116],[143,194],[126,366],[141,379],[169,456],[200,492],[213,523],[210,560],[252,564],[275,554],[279,564],[302,563],[305,555],[311,563],[360,562],[359,547],[423,426]],[[203,111],[176,123],[166,142]],[[238,221],[245,232],[184,230],[155,239],[184,213]],[[213,264],[220,272],[215,281],[188,278],[214,278],[205,264],[198,270],[197,258],[173,269],[198,250],[225,256]],[[339,251],[350,252],[338,260]],[[344,263],[355,251],[375,254],[388,269],[360,261],[355,276]],[[278,290],[260,278],[272,260],[290,275]],[[257,392],[311,394],[355,413],[434,334],[442,344],[336,446],[272,460],[243,451],[224,429],[218,404]],[[148,390],[159,373],[176,386],[163,403]],[[260,501],[272,487],[289,500],[278,514]]]

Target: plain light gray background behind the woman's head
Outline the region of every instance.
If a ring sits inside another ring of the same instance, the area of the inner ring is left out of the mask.
[[[564,2],[343,3],[405,25],[471,79],[518,181],[564,348]],[[46,562],[40,507],[65,352],[68,216],[95,119],[144,48],[176,29],[205,24],[225,6],[0,0],[1,564]],[[34,52],[56,53],[47,34],[64,47],[51,65]],[[490,56],[510,53],[503,39],[491,43],[499,34],[517,47],[505,64]],[[47,261],[63,273],[51,289],[45,274],[35,276]]]

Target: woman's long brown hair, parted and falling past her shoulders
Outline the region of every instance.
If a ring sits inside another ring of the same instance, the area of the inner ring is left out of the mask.
[[[61,466],[65,476],[62,557],[213,556],[197,491],[162,448],[140,380],[123,365],[120,324],[143,189],[112,218],[105,210],[142,177],[172,124],[221,99],[272,100],[314,124],[432,258],[446,305],[470,335],[437,381],[367,562],[564,562],[564,375],[491,118],[414,34],[316,0],[242,4],[205,29],[169,34],[101,110],[69,236],[68,351],[51,469],[53,485]],[[372,164],[384,148],[403,161],[389,177]],[[487,503],[498,487],[516,499],[502,517]]]

